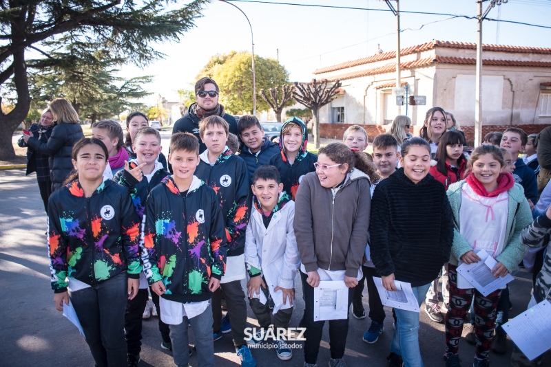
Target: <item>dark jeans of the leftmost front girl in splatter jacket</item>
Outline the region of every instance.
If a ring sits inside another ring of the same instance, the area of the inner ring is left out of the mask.
[[[126,366],[125,309],[127,274],[123,272],[95,287],[69,292],[96,366]]]

